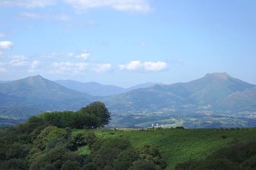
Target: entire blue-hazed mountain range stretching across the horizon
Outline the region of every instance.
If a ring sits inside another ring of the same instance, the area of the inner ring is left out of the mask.
[[[152,121],[152,117],[159,119],[155,116],[231,116],[256,111],[256,86],[227,73],[208,73],[187,83],[146,83],[131,88],[70,80],[53,82],[41,76],[0,84],[1,118],[24,119],[43,111],[77,110],[93,101],[106,103],[115,123],[140,124]],[[141,117],[131,120],[127,115]]]

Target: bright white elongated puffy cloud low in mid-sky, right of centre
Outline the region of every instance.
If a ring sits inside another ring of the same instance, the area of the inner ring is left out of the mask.
[[[127,64],[120,64],[119,69],[129,70],[129,71],[163,71],[167,68],[167,63],[165,62],[140,62],[140,61],[131,61]]]

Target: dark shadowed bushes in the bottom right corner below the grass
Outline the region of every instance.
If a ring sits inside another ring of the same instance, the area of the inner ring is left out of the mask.
[[[177,164],[176,170],[253,170],[256,169],[256,142],[234,143],[219,149],[204,160],[189,160]]]

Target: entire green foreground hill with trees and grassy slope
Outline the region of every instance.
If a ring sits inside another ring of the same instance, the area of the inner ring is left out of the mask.
[[[254,169],[256,129],[99,129],[101,102],[0,129],[0,169]],[[98,128],[98,129],[96,129]]]

